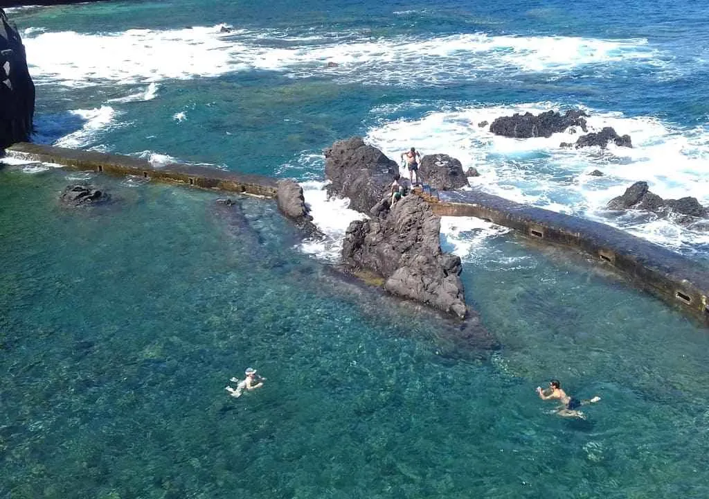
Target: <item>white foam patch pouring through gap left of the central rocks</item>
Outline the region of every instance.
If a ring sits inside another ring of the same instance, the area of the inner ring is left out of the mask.
[[[308,239],[299,246],[303,253],[335,263],[340,261],[347,226],[353,220],[367,217],[349,208],[350,199],[328,197],[325,185],[325,182],[301,182],[303,196],[311,208],[313,224],[320,229],[324,237]]]

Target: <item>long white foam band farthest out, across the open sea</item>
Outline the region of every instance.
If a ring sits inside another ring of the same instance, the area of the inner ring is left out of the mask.
[[[28,28],[30,72],[38,84],[72,87],[117,82],[216,77],[272,70],[289,77],[329,75],[337,82],[445,85],[478,75],[564,72],[582,65],[659,64],[647,40],[491,36],[484,33],[417,38],[372,38],[367,33],[276,30],[220,32],[221,25],[179,30],[133,29],[85,34]],[[289,41],[290,47],[283,47]],[[72,50],[76,48],[77,50]],[[82,57],[75,57],[81,53]],[[328,62],[335,65],[328,66]],[[412,70],[415,68],[415,70]]]

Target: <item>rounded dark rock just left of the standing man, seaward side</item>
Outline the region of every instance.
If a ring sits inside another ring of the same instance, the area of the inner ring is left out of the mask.
[[[325,175],[331,182],[328,194],[349,197],[350,208],[358,212],[369,213],[386,196],[396,172],[396,161],[367,146],[362,137],[338,141],[325,149]]]

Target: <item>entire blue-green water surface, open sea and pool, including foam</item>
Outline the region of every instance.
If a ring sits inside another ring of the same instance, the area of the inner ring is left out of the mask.
[[[707,14],[688,0],[11,9],[35,141],[294,177],[328,241],[303,244],[259,199],[225,210],[209,192],[0,170],[0,498],[709,495],[705,329],[583,256],[444,219],[501,348],[456,344],[435,314],[332,270],[352,215],[322,191],[334,141],[391,158],[415,145],[475,166],[489,192],[706,265],[699,224],[603,206],[636,180],[709,204]],[[570,106],[634,148],[478,126]],[[113,201],[63,209],[76,181]],[[247,366],[265,387],[228,397]],[[552,377],[603,400],[562,420],[534,393]]]

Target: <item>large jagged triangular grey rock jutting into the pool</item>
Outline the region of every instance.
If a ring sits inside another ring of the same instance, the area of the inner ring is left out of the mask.
[[[384,277],[384,289],[464,318],[464,287],[458,256],[440,248],[440,218],[418,196],[394,203],[384,216],[353,221],[342,245],[352,268]]]

